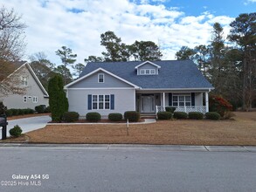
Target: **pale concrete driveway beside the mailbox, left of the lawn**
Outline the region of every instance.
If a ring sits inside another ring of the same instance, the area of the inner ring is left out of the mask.
[[[24,134],[24,133],[36,130],[38,128],[45,127],[47,122],[49,122],[50,120],[51,120],[51,117],[49,117],[49,115],[17,119],[17,120],[8,120],[7,137],[10,136],[9,130],[16,125],[22,128],[23,130],[22,133]],[[1,139],[2,139],[2,130],[0,131],[0,140]]]

